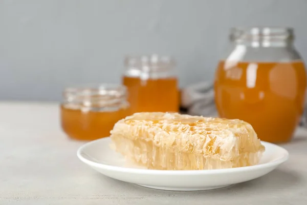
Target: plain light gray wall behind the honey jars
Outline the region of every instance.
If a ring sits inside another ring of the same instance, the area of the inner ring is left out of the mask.
[[[291,26],[307,59],[306,0],[2,0],[0,99],[59,100],[120,83],[128,53],[170,54],[180,86],[213,77],[232,26]]]

